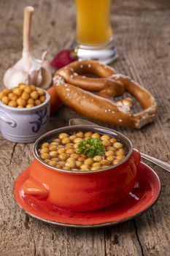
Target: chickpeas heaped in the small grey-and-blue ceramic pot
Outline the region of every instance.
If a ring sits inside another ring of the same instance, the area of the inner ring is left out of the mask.
[[[0,91],[0,99],[12,108],[33,108],[45,102],[45,91],[34,85],[20,83],[11,90],[5,88]]]

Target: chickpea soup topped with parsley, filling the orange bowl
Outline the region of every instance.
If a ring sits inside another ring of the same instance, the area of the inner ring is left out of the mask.
[[[42,143],[39,156],[48,165],[63,170],[100,170],[117,165],[125,158],[123,143],[107,134],[93,132],[61,133]]]

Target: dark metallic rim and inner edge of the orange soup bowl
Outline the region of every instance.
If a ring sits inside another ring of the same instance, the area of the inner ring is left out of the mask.
[[[86,170],[84,172],[80,171],[80,170],[63,170],[60,168],[56,168],[53,167],[51,165],[48,165],[47,163],[43,162],[42,159],[39,157],[38,154],[38,149],[39,149],[39,145],[42,142],[47,142],[48,140],[50,140],[50,138],[54,138],[56,135],[58,135],[61,132],[66,132],[66,131],[76,131],[76,130],[88,130],[88,131],[96,131],[99,133],[107,133],[109,135],[114,135],[116,138],[119,138],[120,141],[123,141],[124,145],[126,146],[126,148],[128,148],[128,154],[125,156],[125,159],[123,159],[122,161],[120,161],[117,165],[110,165],[107,168],[104,169],[99,169],[99,170]],[[40,138],[38,138],[36,140],[36,142],[34,143],[34,149],[33,149],[33,153],[34,153],[34,157],[42,163],[42,165],[45,165],[46,167],[50,167],[51,169],[55,170],[55,171],[60,171],[62,173],[79,173],[79,174],[85,174],[85,173],[99,173],[99,172],[103,172],[103,171],[107,171],[110,170],[111,168],[115,168],[117,166],[123,165],[124,162],[126,162],[129,157],[131,157],[133,151],[133,146],[131,143],[131,140],[128,140],[128,138],[125,137],[125,135],[121,134],[120,132],[117,132],[113,129],[109,129],[109,128],[105,128],[105,127],[98,127],[98,126],[89,126],[89,125],[74,125],[72,127],[62,127],[62,128],[58,128],[58,129],[53,129],[50,132],[45,133],[44,135],[42,135]]]

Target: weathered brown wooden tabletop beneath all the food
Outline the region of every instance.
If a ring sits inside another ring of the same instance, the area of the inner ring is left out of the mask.
[[[74,1],[0,0],[1,86],[5,70],[20,58],[23,7],[28,4],[35,7],[31,31],[35,56],[47,49],[51,59],[59,50],[69,48],[74,39]],[[169,0],[112,1],[112,27],[120,52],[113,66],[149,89],[159,107],[154,124],[141,130],[118,130],[136,148],[166,162],[170,156],[169,24]],[[51,118],[49,129],[66,125],[74,116],[72,110],[62,108]],[[12,187],[33,159],[33,144],[11,143],[1,136],[0,148],[0,255],[170,255],[170,174],[160,167],[149,164],[161,178],[162,192],[147,213],[114,227],[82,230],[47,225],[20,210]]]

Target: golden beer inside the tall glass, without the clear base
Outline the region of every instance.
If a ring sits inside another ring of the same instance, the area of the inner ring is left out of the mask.
[[[110,0],[75,0],[76,40],[81,45],[104,45],[112,38]]]

